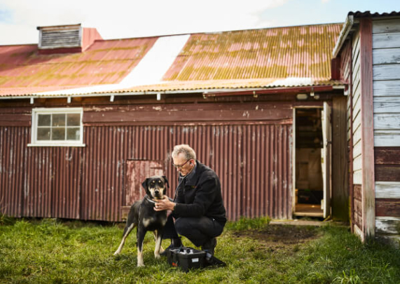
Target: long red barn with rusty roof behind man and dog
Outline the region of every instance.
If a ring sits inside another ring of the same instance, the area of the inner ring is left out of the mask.
[[[342,27],[104,40],[78,24],[0,46],[0,212],[119,222],[148,175],[172,196],[170,152],[188,143],[230,220],[347,220]]]

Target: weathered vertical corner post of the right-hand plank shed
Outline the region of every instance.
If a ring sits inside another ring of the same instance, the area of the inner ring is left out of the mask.
[[[362,226],[364,240],[375,237],[375,169],[373,158],[373,74],[372,20],[361,18],[360,80],[361,80],[361,156],[362,156]]]

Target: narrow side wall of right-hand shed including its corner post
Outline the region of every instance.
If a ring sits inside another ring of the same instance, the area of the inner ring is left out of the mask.
[[[351,147],[352,231],[368,241],[375,234],[375,168],[373,163],[372,21],[362,18],[352,36],[352,76],[347,100]]]

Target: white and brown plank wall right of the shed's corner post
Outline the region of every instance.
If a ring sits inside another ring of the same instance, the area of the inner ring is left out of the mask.
[[[373,20],[376,235],[400,243],[400,18]]]

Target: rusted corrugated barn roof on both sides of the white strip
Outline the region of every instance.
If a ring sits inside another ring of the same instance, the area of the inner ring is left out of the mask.
[[[0,96],[333,85],[331,52],[341,27],[191,34],[163,79],[142,86],[121,81],[163,37],[97,40],[83,53],[57,55],[38,55],[35,45],[0,46]]]

